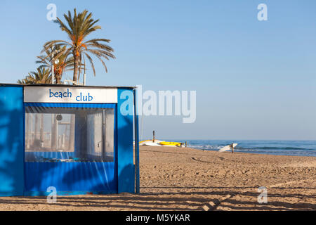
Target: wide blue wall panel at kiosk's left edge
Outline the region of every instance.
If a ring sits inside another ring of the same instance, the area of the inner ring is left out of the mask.
[[[23,195],[22,86],[0,86],[0,196]]]

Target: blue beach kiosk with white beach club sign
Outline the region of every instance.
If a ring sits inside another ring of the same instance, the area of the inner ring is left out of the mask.
[[[0,196],[138,193],[135,105],[133,86],[0,84]]]

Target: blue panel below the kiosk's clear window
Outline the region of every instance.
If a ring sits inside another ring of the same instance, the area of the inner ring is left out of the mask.
[[[117,192],[114,162],[25,162],[25,191],[45,193],[49,186],[58,192]]]

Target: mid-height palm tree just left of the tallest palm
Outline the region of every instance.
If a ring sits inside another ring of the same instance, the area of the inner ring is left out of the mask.
[[[54,63],[54,75],[55,84],[61,84],[62,73],[74,68],[74,58],[68,57],[65,54],[66,46],[54,46],[53,49],[45,49],[46,55],[37,56],[38,60],[36,63],[40,63],[39,68],[51,68],[51,63]],[[53,57],[53,53],[55,56]]]

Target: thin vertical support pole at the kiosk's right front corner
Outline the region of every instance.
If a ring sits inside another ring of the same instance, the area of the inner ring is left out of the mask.
[[[136,89],[133,89],[134,94],[134,133],[135,133],[135,181],[136,181],[136,193],[140,193],[139,184],[139,136],[138,136],[138,114],[136,105]]]

